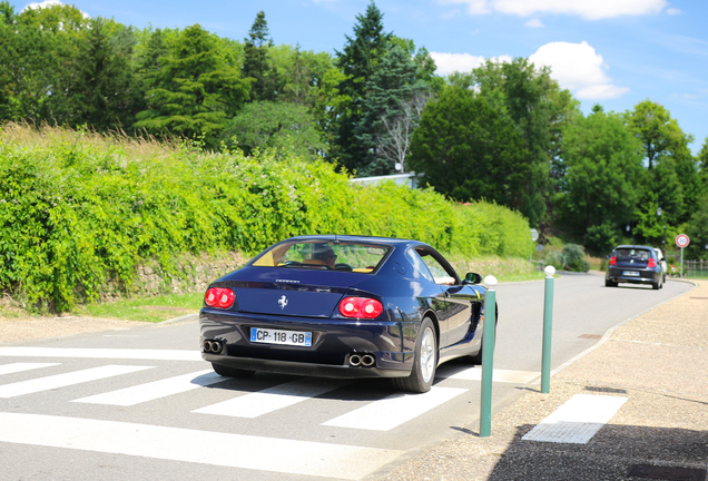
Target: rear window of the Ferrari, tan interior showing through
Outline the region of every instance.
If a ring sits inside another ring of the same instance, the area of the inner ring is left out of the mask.
[[[367,243],[286,242],[265,251],[250,265],[371,274],[389,251],[390,246]]]

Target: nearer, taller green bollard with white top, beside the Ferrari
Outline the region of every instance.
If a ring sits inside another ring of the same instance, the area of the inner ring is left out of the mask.
[[[484,278],[489,287],[484,294],[484,326],[482,333],[482,400],[480,403],[480,438],[492,432],[492,375],[494,363],[494,327],[496,324],[496,277]]]

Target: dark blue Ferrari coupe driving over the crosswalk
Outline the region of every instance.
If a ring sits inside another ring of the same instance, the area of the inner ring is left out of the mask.
[[[442,362],[480,363],[481,279],[416,240],[293,237],[209,285],[201,356],[225,376],[390,377],[426,392]]]

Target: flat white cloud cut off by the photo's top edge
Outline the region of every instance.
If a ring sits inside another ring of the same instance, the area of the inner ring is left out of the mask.
[[[531,17],[538,13],[580,16],[588,20],[636,17],[659,13],[667,0],[439,0],[441,3],[464,3],[470,14],[492,11]]]

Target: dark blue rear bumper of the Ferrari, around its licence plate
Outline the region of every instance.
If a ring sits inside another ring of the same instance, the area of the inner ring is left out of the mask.
[[[323,377],[401,377],[413,366],[419,322],[278,317],[225,313],[205,308],[199,318],[201,357],[205,361],[281,374]],[[250,341],[254,327],[312,333],[312,346],[265,344]],[[205,341],[218,341],[218,353],[205,352]],[[368,366],[351,365],[352,354],[370,354]]]

